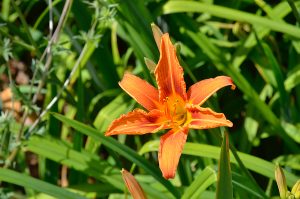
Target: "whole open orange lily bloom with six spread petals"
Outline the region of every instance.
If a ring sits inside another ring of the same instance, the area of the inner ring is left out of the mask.
[[[183,69],[169,34],[162,34],[157,44],[160,59],[154,75],[158,89],[135,75],[126,73],[119,85],[148,112],[135,109],[112,122],[106,136],[142,135],[170,129],[161,137],[158,151],[159,167],[166,179],[174,178],[188,130],[220,126],[232,127],[223,113],[216,113],[201,105],[224,86],[235,88],[230,77],[218,76],[192,85],[186,92]]]

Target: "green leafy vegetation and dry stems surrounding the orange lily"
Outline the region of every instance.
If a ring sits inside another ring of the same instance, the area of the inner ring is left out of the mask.
[[[274,163],[289,187],[297,181],[300,1],[0,6],[0,198],[123,198],[121,168],[135,174],[149,198],[214,198],[223,131],[234,153],[234,198],[279,196]],[[158,169],[161,132],[104,137],[111,121],[139,106],[118,86],[124,72],[154,83],[144,64],[144,57],[159,58],[151,22],[180,44],[187,87],[217,75],[237,86],[205,104],[234,127],[191,130],[171,181]]]

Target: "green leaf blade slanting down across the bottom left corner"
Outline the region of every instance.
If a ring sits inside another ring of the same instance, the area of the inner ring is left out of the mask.
[[[72,193],[66,189],[60,188],[58,186],[46,183],[42,180],[27,176],[16,171],[9,169],[0,168],[0,179],[4,182],[9,182],[15,185],[23,186],[26,188],[34,189],[39,192],[49,194],[56,198],[65,198],[65,199],[84,199],[80,195]]]

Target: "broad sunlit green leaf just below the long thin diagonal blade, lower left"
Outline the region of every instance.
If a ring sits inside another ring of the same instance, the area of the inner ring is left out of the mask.
[[[61,140],[50,137],[31,136],[26,145],[27,150],[40,156],[82,171],[120,190],[124,187],[119,170],[112,168],[105,161],[100,161],[97,155],[83,150],[75,151]]]

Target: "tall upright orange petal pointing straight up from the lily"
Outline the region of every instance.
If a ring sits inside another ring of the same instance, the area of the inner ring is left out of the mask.
[[[158,85],[160,102],[171,95],[179,95],[182,99],[186,100],[183,69],[179,64],[175,48],[168,33],[161,37],[160,59],[154,74]]]

